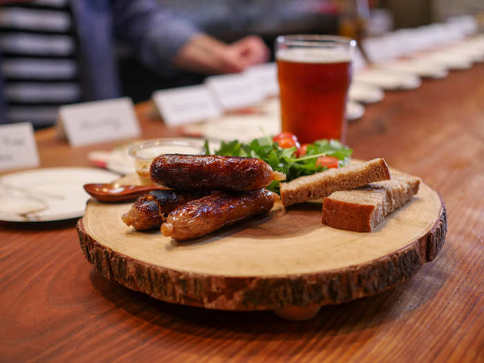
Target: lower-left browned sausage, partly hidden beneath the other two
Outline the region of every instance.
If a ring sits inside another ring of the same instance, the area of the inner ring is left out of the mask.
[[[154,190],[140,196],[129,212],[124,213],[122,221],[132,225],[136,230],[151,230],[160,227],[164,214],[194,199],[201,198],[210,192],[191,191],[180,192],[174,190]]]

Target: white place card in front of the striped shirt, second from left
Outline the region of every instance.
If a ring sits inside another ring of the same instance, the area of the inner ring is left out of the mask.
[[[140,136],[129,97],[62,106],[59,122],[73,147]]]

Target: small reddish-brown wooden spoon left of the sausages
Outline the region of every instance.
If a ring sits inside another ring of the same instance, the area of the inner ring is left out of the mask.
[[[120,185],[118,183],[84,184],[84,190],[93,198],[103,202],[130,201],[152,190],[169,190],[162,185]]]

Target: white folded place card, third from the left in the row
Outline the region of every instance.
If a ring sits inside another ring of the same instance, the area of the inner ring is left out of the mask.
[[[221,107],[203,85],[156,91],[151,98],[168,126],[217,118],[222,114]]]

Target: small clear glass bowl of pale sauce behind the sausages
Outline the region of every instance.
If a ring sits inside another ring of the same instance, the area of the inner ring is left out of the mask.
[[[199,155],[203,153],[200,143],[189,140],[158,139],[140,142],[129,148],[129,155],[135,158],[136,174],[142,185],[152,184],[149,176],[151,162],[164,153],[185,153]]]

